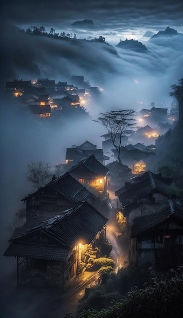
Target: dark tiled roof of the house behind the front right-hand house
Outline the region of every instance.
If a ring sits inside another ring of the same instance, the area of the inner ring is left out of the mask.
[[[159,175],[147,171],[141,176],[133,178],[133,183],[129,183],[118,189],[115,195],[119,196],[120,202],[127,204],[129,200],[134,202],[156,191],[169,197],[171,187]]]

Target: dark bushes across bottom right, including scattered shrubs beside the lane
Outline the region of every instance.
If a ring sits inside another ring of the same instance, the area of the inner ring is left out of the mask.
[[[137,279],[136,274],[134,277]],[[114,278],[113,286],[115,284],[118,286],[117,282],[120,279]],[[131,276],[122,276],[121,287],[125,288],[130,278]],[[180,318],[183,316],[183,266],[176,271],[171,270],[165,276],[152,278],[143,288],[134,287],[126,297],[121,294],[120,298],[117,289],[116,291],[114,288],[110,289],[109,281],[110,279],[105,284],[105,289],[96,288],[93,294],[89,294],[88,299],[85,300],[86,309],[80,312],[79,318]],[[108,306],[107,302],[110,299],[111,303]],[[100,305],[104,304],[105,308],[100,310]]]

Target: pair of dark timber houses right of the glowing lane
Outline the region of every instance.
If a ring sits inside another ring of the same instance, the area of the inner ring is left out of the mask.
[[[171,179],[147,171],[116,190],[117,219],[126,222],[130,263],[157,271],[183,263],[183,206]]]

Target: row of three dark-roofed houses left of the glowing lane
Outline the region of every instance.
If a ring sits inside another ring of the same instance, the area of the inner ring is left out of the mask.
[[[63,289],[81,265],[92,265],[90,255],[106,235],[97,194],[107,195],[107,172],[92,154],[22,199],[26,223],[4,254],[17,258],[18,283]]]

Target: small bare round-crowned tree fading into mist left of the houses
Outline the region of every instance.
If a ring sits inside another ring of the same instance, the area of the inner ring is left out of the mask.
[[[44,186],[48,181],[51,180],[51,166],[48,163],[42,161],[34,163],[31,161],[27,166],[26,180],[35,188]]]

